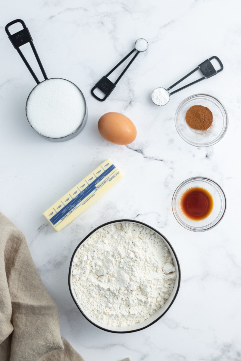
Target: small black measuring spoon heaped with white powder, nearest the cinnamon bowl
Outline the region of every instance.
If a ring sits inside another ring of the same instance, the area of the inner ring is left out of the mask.
[[[218,60],[219,64],[220,64],[220,69],[216,70],[214,68],[214,66],[211,63],[212,59],[216,59]],[[169,92],[169,90],[171,90],[172,88],[174,88],[177,84],[181,83],[184,79],[188,78],[189,75],[195,73],[195,71],[197,71],[198,69],[201,70],[203,77],[199,78],[197,80],[195,80],[194,82],[191,82],[173,92]],[[208,79],[211,78],[212,76],[218,74],[220,71],[223,70],[223,64],[221,62],[221,60],[217,57],[217,56],[212,56],[211,58],[208,58],[207,60],[203,61],[201,64],[199,64],[197,66],[197,68],[195,68],[194,70],[190,71],[190,73],[188,73],[187,75],[185,75],[185,77],[181,78],[180,80],[178,80],[176,83],[172,84],[169,88],[165,89],[165,88],[156,88],[153,90],[153,92],[151,93],[151,100],[153,101],[154,104],[156,105],[165,105],[168,103],[168,101],[170,100],[170,96],[177,93],[178,91],[185,89],[187,87],[190,87],[193,84],[196,84],[198,82],[201,82],[204,79]]]

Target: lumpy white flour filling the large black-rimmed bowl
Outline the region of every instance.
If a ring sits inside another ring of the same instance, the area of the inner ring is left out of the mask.
[[[79,303],[109,326],[147,319],[164,305],[176,279],[163,240],[134,223],[97,231],[83,243],[73,265],[73,288]]]

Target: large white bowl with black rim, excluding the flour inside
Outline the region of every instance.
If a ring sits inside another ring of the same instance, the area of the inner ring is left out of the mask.
[[[124,326],[124,327],[117,327],[117,326],[108,326],[105,325],[103,323],[100,323],[99,321],[97,321],[96,319],[94,319],[92,316],[90,316],[86,310],[83,308],[83,306],[79,303],[77,296],[74,292],[74,288],[73,288],[73,283],[72,283],[72,270],[73,270],[73,260],[74,257],[77,255],[79,248],[81,248],[81,246],[83,245],[83,243],[89,239],[90,236],[92,236],[95,232],[99,231],[100,229],[108,226],[108,225],[115,225],[115,224],[119,224],[119,223],[137,223],[139,225],[145,226],[147,228],[149,228],[150,230],[156,232],[156,234],[158,234],[160,236],[160,238],[163,240],[163,242],[167,245],[167,248],[172,256],[173,259],[173,264],[176,268],[176,280],[174,283],[174,287],[173,290],[171,292],[171,295],[169,296],[169,298],[167,299],[167,301],[164,303],[164,305],[162,307],[160,307],[156,312],[154,312],[149,318],[147,318],[145,321],[142,322],[138,322],[138,323],[134,323],[134,325],[129,325],[129,326]],[[165,236],[163,236],[163,234],[161,234],[160,232],[158,232],[156,229],[152,228],[151,226],[146,225],[145,223],[142,222],[138,222],[138,221],[134,221],[132,219],[119,219],[117,221],[111,221],[111,222],[107,222],[104,223],[103,225],[97,227],[96,229],[94,229],[92,232],[90,232],[76,247],[76,249],[74,250],[74,253],[71,257],[71,261],[70,261],[70,266],[69,266],[69,291],[70,294],[74,300],[74,303],[76,304],[76,306],[78,307],[78,309],[80,310],[80,312],[82,313],[82,315],[90,322],[92,323],[92,325],[98,327],[99,329],[102,329],[104,331],[108,331],[108,332],[114,332],[117,334],[124,334],[124,333],[129,333],[129,332],[135,332],[135,331],[140,331],[143,329],[146,329],[146,327],[149,327],[151,325],[153,325],[153,323],[155,323],[156,321],[158,321],[171,307],[171,305],[173,304],[174,300],[176,299],[177,293],[179,291],[179,287],[180,287],[180,280],[181,280],[181,272],[180,272],[180,265],[179,265],[179,261],[178,258],[176,256],[176,253],[174,251],[174,249],[172,248],[172,245],[169,243],[169,241],[165,238]]]

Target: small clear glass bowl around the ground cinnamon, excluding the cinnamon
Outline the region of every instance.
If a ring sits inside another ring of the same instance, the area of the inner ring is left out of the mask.
[[[186,112],[193,105],[209,108],[213,114],[213,121],[207,130],[192,129],[186,123]],[[228,128],[228,114],[223,104],[208,94],[194,94],[186,98],[178,106],[175,114],[175,126],[178,134],[185,142],[195,147],[209,147],[223,138]]]

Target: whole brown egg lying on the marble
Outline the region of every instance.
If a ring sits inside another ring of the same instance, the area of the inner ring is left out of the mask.
[[[109,112],[100,117],[98,130],[104,139],[114,144],[126,145],[135,140],[137,130],[125,115]]]

